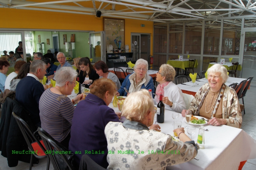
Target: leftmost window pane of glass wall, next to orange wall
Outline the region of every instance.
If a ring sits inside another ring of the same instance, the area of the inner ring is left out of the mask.
[[[167,53],[167,25],[154,26],[154,53]]]

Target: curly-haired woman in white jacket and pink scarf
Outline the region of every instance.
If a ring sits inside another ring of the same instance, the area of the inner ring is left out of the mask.
[[[183,100],[181,89],[172,82],[174,77],[175,69],[169,64],[162,64],[159,72],[156,74],[156,81],[160,84],[156,88],[154,104],[159,102],[159,96],[162,94],[165,109],[181,113],[186,108],[186,104]]]

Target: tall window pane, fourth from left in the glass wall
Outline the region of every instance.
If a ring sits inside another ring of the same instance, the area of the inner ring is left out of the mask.
[[[221,20],[205,21],[203,54],[219,54],[220,33]]]

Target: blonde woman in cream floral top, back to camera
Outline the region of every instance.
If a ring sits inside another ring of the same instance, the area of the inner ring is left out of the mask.
[[[197,145],[184,134],[184,128],[174,130],[180,137],[179,142],[148,128],[154,120],[154,103],[147,90],[131,93],[126,98],[122,116],[127,119],[123,123],[109,122],[105,127],[107,169],[163,170],[196,156]]]

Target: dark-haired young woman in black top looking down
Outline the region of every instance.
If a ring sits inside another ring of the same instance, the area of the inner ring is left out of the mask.
[[[85,84],[85,87],[88,88],[94,80],[100,78],[100,76],[93,69],[93,66],[88,57],[81,58],[78,63],[80,69],[83,71],[83,74],[79,74],[79,82]]]

